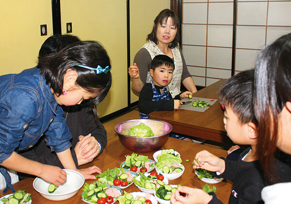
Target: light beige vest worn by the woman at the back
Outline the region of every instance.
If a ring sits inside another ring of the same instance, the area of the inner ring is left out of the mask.
[[[149,52],[151,59],[153,59],[156,55],[164,54],[160,50],[160,48],[156,45],[156,43],[154,43],[152,41],[147,42],[143,46],[143,48],[146,48],[146,50]],[[175,97],[180,93],[182,71],[183,71],[183,62],[182,62],[182,57],[181,57],[181,53],[178,49],[178,46],[176,48],[172,49],[172,53],[174,56],[175,69],[173,72],[173,79],[168,86],[169,86],[169,91],[170,91],[172,97]],[[150,82],[150,78],[151,78],[151,76],[150,76],[149,71],[148,71],[147,76],[146,76],[146,83]]]

